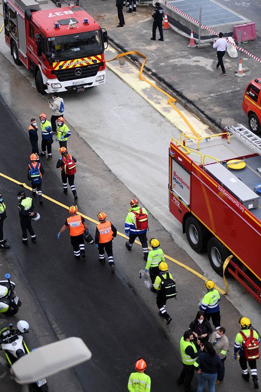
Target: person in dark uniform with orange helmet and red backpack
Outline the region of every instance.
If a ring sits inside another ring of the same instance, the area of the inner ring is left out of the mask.
[[[72,194],[74,196],[74,200],[77,200],[77,192],[74,185],[74,174],[76,173],[75,163],[76,159],[68,154],[68,151],[65,147],[60,147],[59,152],[62,154],[62,157],[58,159],[56,167],[61,167],[62,174],[62,182],[63,182],[63,192],[67,194],[67,180],[71,187]]]

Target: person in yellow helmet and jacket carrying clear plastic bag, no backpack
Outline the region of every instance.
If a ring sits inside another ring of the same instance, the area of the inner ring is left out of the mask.
[[[157,290],[153,287],[156,276],[160,274],[159,264],[161,261],[165,261],[163,250],[160,249],[160,242],[156,238],[151,238],[150,246],[152,247],[152,251],[148,254],[147,264],[145,267],[145,272],[149,269],[149,276],[151,279],[152,287],[150,290],[153,292],[157,292]]]

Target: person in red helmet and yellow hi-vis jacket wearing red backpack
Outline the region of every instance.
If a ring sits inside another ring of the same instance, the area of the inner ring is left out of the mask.
[[[125,220],[125,233],[129,236],[128,242],[125,242],[125,247],[128,251],[131,251],[135,239],[139,237],[143,250],[143,259],[147,261],[149,251],[146,236],[147,229],[137,229],[136,214],[142,212],[143,214],[148,216],[148,213],[144,207],[140,208],[138,200],[133,199],[130,204],[131,208],[128,210],[129,212]]]

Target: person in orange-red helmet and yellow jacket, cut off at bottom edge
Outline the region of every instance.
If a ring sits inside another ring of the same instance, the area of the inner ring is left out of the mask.
[[[150,377],[145,374],[147,364],[143,358],[135,363],[137,372],[131,373],[128,378],[128,392],[150,392]]]

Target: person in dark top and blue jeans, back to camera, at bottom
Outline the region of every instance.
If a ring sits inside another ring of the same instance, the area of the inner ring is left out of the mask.
[[[194,362],[194,366],[199,374],[197,392],[203,392],[206,382],[208,384],[208,390],[215,392],[217,375],[223,366],[210,341],[206,342],[204,350],[205,353],[200,354]]]

